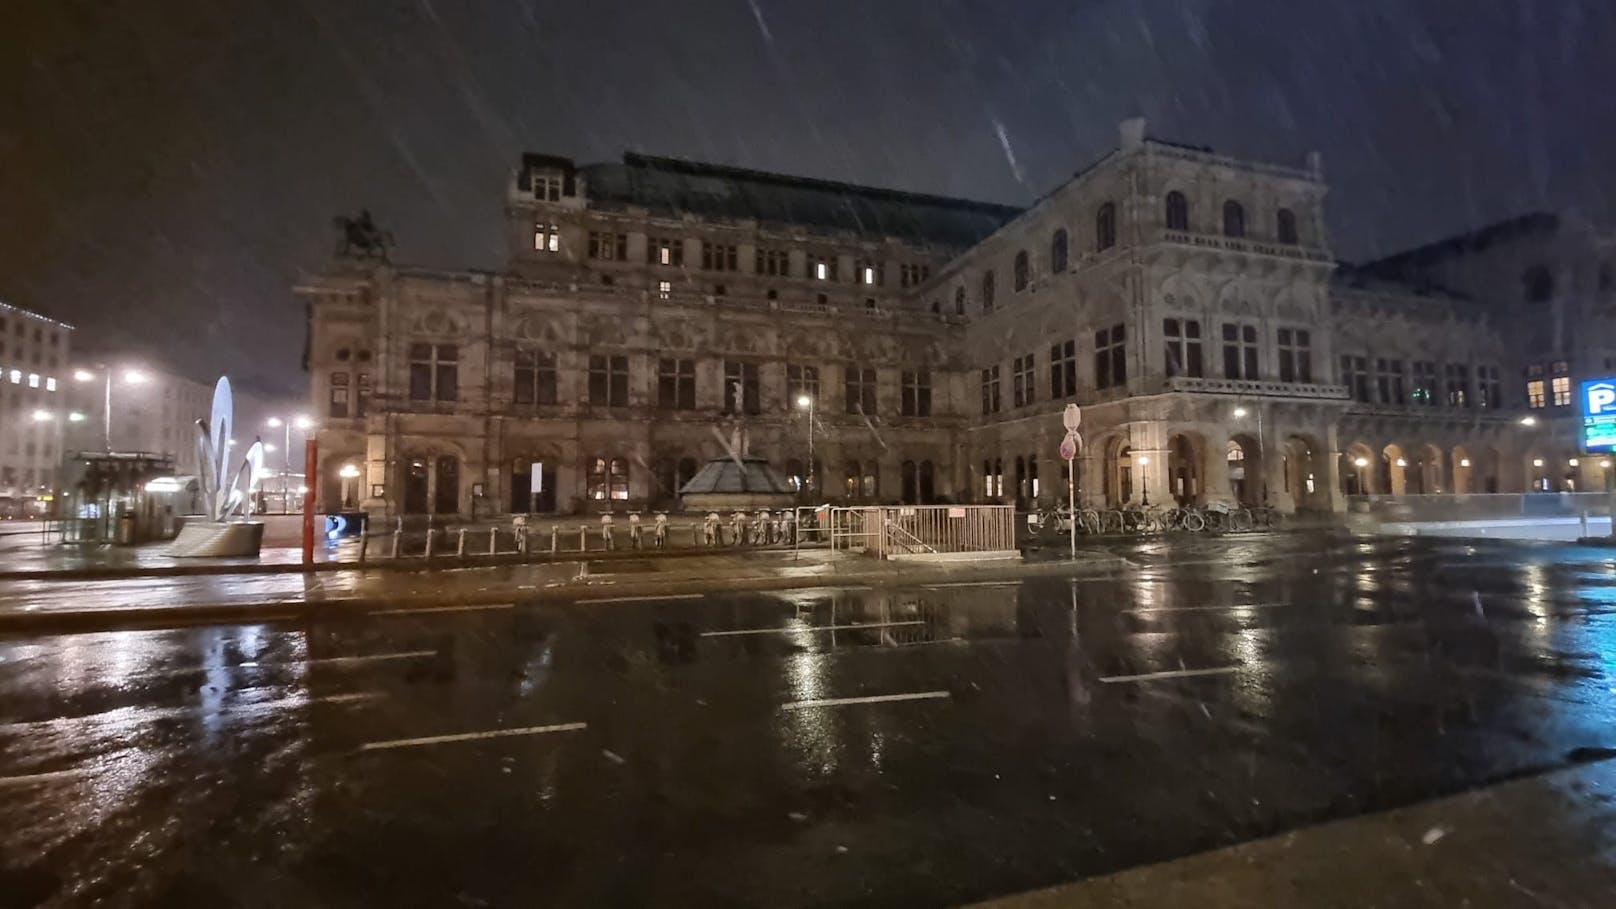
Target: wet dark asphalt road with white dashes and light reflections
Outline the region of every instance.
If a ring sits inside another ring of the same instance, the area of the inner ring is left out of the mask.
[[[1608,550],[1117,552],[0,641],[0,903],[949,904],[1616,747]]]

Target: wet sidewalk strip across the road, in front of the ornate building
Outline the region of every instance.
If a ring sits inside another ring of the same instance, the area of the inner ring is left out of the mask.
[[[1020,560],[900,563],[803,552],[692,553],[684,558],[558,560],[433,573],[341,568],[304,573],[163,579],[8,582],[0,632],[50,634],[194,623],[309,621],[543,602],[632,602],[729,590],[918,586],[1110,573],[1125,561],[1083,553],[1078,563]]]

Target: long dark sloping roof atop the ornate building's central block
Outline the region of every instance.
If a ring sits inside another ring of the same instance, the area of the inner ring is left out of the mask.
[[[1013,205],[633,152],[622,163],[585,165],[579,171],[588,180],[591,207],[632,205],[653,215],[756,220],[950,247],[971,246],[1021,214]]]

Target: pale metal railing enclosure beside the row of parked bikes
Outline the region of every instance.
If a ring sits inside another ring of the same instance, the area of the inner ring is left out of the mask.
[[[866,552],[879,558],[1016,552],[1015,506],[832,508],[831,548]]]

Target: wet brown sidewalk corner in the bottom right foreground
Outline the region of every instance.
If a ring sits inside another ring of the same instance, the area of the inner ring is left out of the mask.
[[[1613,894],[1616,760],[1600,760],[979,906],[1595,909]]]

